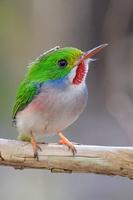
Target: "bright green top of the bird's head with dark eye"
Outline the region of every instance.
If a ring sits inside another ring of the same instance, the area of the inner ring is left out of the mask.
[[[77,48],[54,48],[29,66],[26,79],[43,82],[63,78],[76,66],[82,55],[83,52]]]

